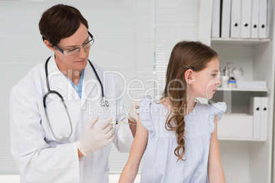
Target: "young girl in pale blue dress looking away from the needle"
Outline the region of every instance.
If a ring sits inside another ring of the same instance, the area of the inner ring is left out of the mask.
[[[141,182],[225,182],[217,121],[224,102],[200,104],[220,85],[218,54],[200,42],[174,46],[158,102],[144,97],[129,160],[119,182],[133,182],[144,154]]]

